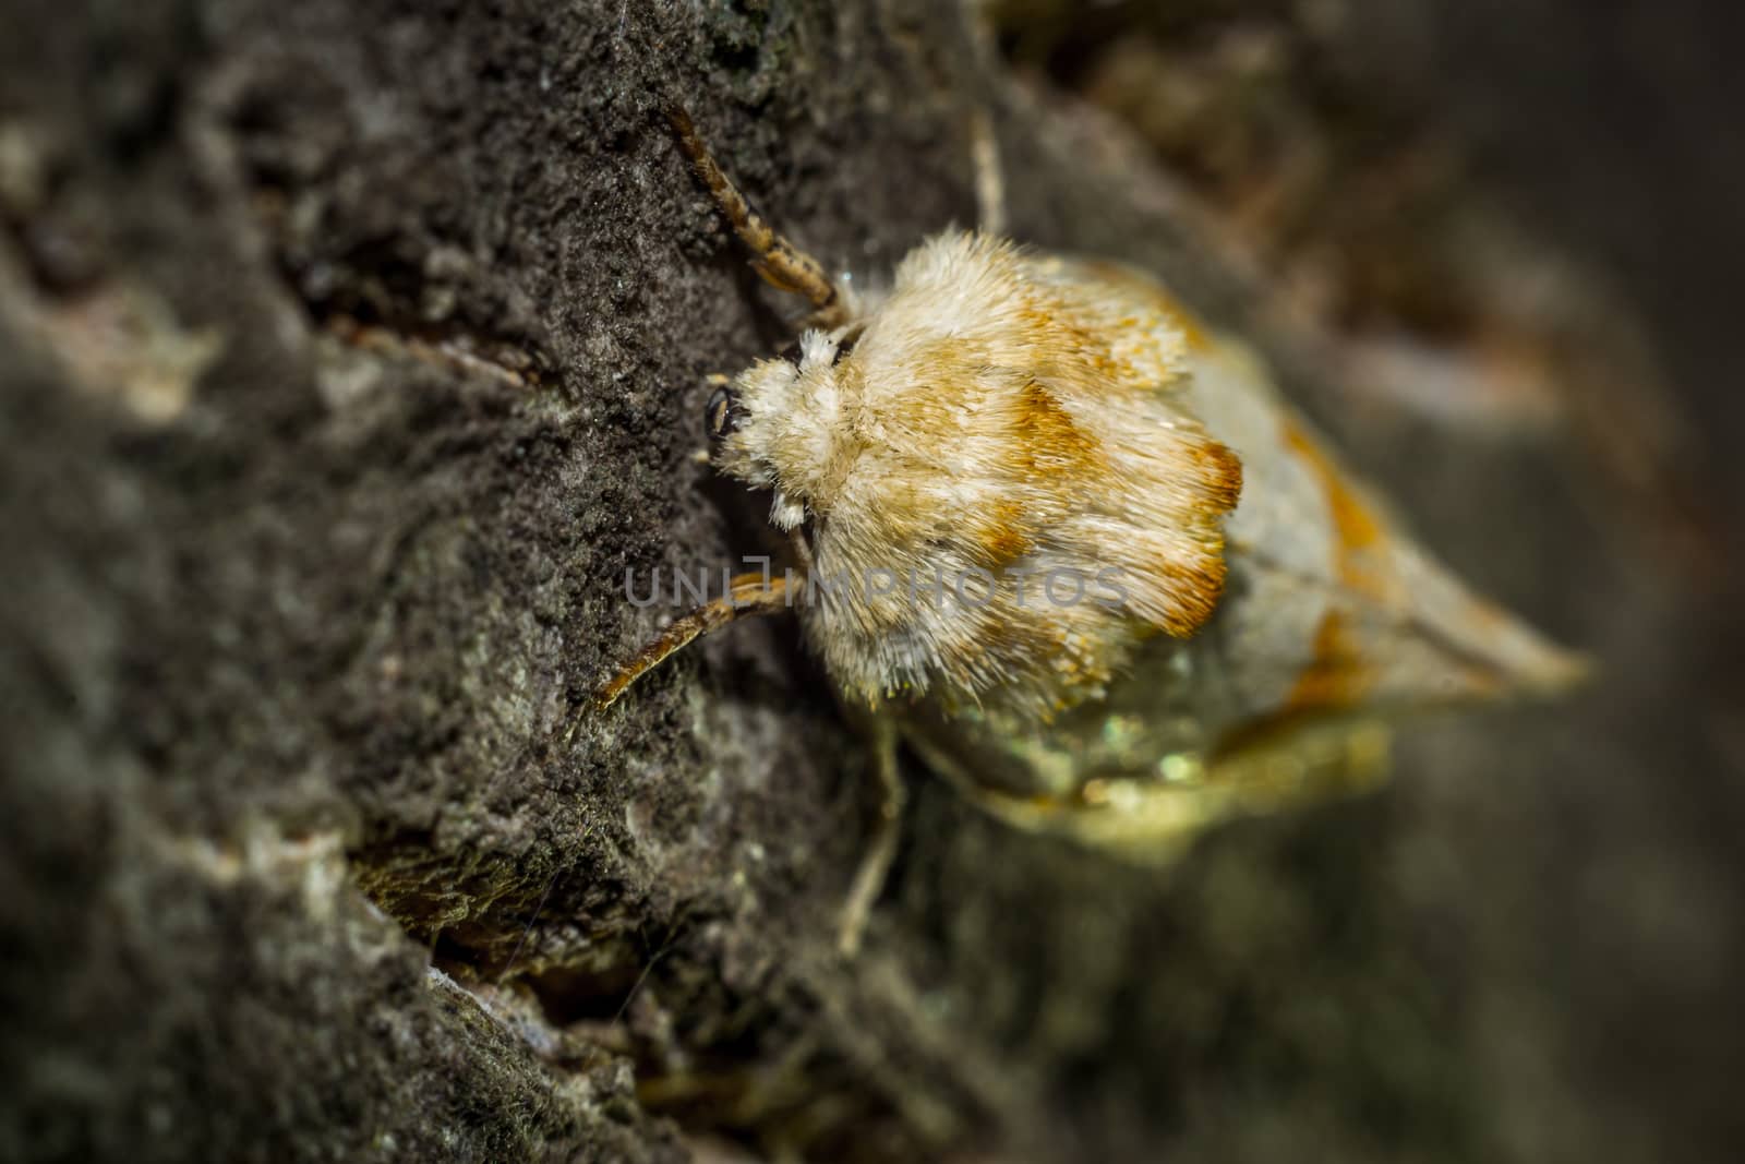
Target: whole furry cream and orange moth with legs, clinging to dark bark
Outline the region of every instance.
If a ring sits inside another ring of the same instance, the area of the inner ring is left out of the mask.
[[[895,852],[904,743],[1014,825],[1169,860],[1373,782],[1399,710],[1581,675],[1153,277],[946,230],[852,295],[670,119],[754,265],[811,307],[705,410],[710,462],[771,496],[794,569],[735,578],[593,703],[701,633],[797,614],[883,789],[845,951]]]

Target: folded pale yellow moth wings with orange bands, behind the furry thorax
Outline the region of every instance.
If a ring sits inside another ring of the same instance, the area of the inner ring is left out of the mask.
[[[1197,635],[1148,640],[1103,696],[1050,722],[913,709],[904,733],[930,766],[1017,825],[1167,860],[1227,817],[1375,784],[1403,712],[1581,679],[1579,656],[1424,550],[1246,347],[1143,274],[1078,270],[1178,321],[1188,407],[1242,461],[1225,593]]]

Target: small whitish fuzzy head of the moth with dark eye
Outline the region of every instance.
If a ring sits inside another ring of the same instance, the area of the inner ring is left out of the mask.
[[[752,489],[775,490],[770,520],[794,529],[824,499],[845,443],[855,330],[806,332],[717,387],[703,408],[710,462]]]

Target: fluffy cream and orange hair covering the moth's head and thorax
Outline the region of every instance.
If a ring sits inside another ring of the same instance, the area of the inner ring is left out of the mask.
[[[839,337],[818,337],[797,368],[738,379],[747,422],[719,464],[799,503],[818,574],[988,571],[993,588],[981,609],[949,586],[914,602],[907,585],[810,606],[808,635],[845,691],[1045,717],[1145,637],[1209,618],[1241,466],[1185,407],[1185,340],[1166,316],[953,232],[904,260],[846,333],[843,359]],[[1016,576],[1031,569],[1115,571],[1122,597],[1057,604],[1033,588],[1026,602]]]

